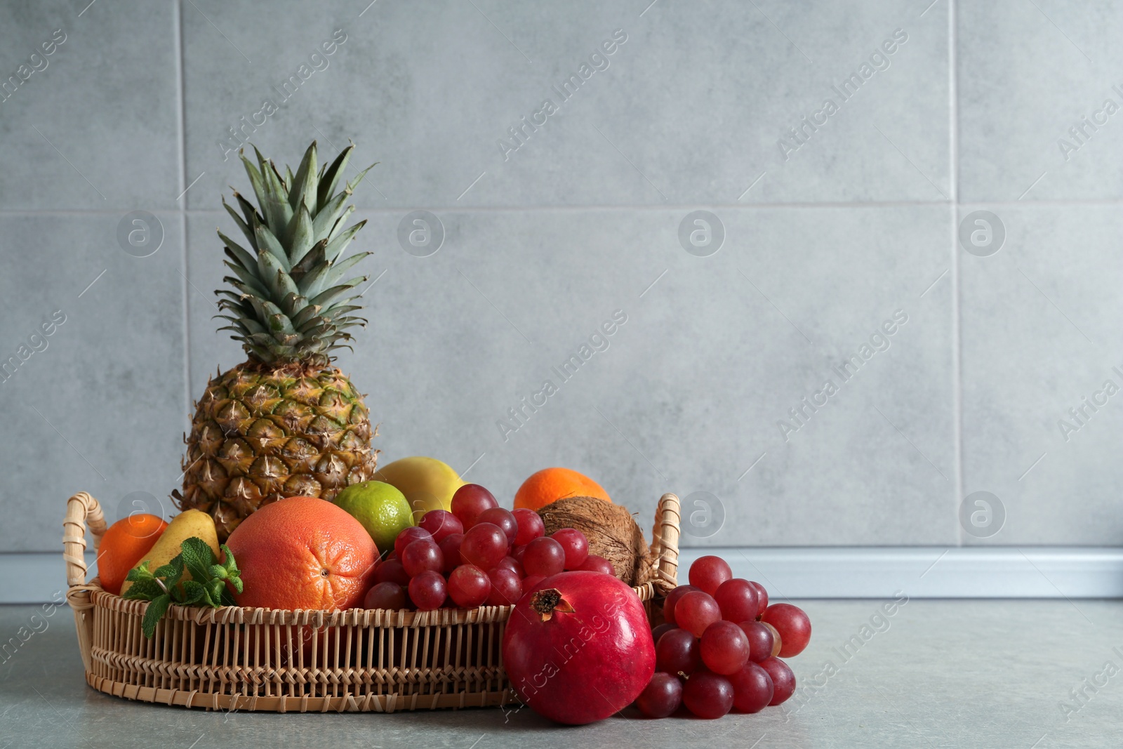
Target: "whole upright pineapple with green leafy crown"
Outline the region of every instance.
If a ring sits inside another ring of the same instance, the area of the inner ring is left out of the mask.
[[[243,218],[222,199],[248,248],[218,232],[234,275],[223,278],[232,290],[216,292],[216,317],[249,358],[207,383],[184,440],[183,493],[172,493],[181,510],[214,518],[220,540],[263,504],[331,500],[374,477],[363,395],[331,364],[351,339],[347,329],[366,322],[350,294],[366,276],[347,276],[371,253],[340,259],[366,223],[345,228],[355,207],[344,203],[371,168],[343,179],[353,149],[317,170],[313,141],[296,174],[285,167],[284,176],[256,148],[257,166],[239,154],[257,205],[235,191]]]

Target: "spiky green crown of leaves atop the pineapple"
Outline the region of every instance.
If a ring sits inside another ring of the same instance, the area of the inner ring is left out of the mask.
[[[351,314],[362,305],[356,303],[359,294],[349,292],[367,276],[348,275],[371,253],[343,257],[366,221],[348,227],[355,207],[344,203],[374,164],[353,182],[345,180],[354,148],[351,144],[330,165],[318,167],[313,140],[296,173],[285,166],[284,176],[256,147],[256,165],[238,154],[257,205],[237,190],[237,209],[222,199],[248,247],[219,230],[234,275],[223,278],[232,290],[216,291],[223,312],[216,317],[229,322],[219,330],[232,331],[252,359],[326,363],[332,350],[347,347],[349,328],[366,323]]]

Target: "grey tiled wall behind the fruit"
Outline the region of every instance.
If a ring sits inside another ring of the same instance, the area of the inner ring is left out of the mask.
[[[380,162],[355,193],[371,325],[340,365],[383,460],[508,499],[569,466],[642,518],[712,495],[694,545],[1119,544],[1123,6],[649,3],[0,7],[0,551],[56,549],[79,490],[171,510],[191,401],[241,359],[211,319],[231,128]],[[398,240],[417,209],[444,227],[428,257]],[[696,210],[707,256],[679,239]],[[133,211],[163,230],[146,257]],[[975,211],[996,253],[964,249]],[[979,491],[998,532],[960,522]]]

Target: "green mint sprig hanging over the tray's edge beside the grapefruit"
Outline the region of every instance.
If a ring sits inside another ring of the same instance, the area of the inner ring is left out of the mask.
[[[234,595],[227,583],[241,593],[241,572],[234,560],[234,552],[225,544],[219,547],[223,559],[214,558],[207,541],[191,537],[180,545],[177,554],[166,565],[148,570],[148,563],[130,569],[125,579],[133,583],[125,597],[134,601],[150,601],[140,630],[149,640],[156,636],[156,623],[173,603],[181,606],[232,606]],[[183,579],[184,573],[190,575]]]

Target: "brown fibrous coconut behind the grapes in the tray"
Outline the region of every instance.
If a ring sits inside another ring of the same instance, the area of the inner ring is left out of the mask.
[[[612,563],[617,577],[628,585],[655,579],[655,559],[643,531],[622,504],[595,496],[567,496],[538,510],[549,536],[575,528],[588,539],[588,552]]]

